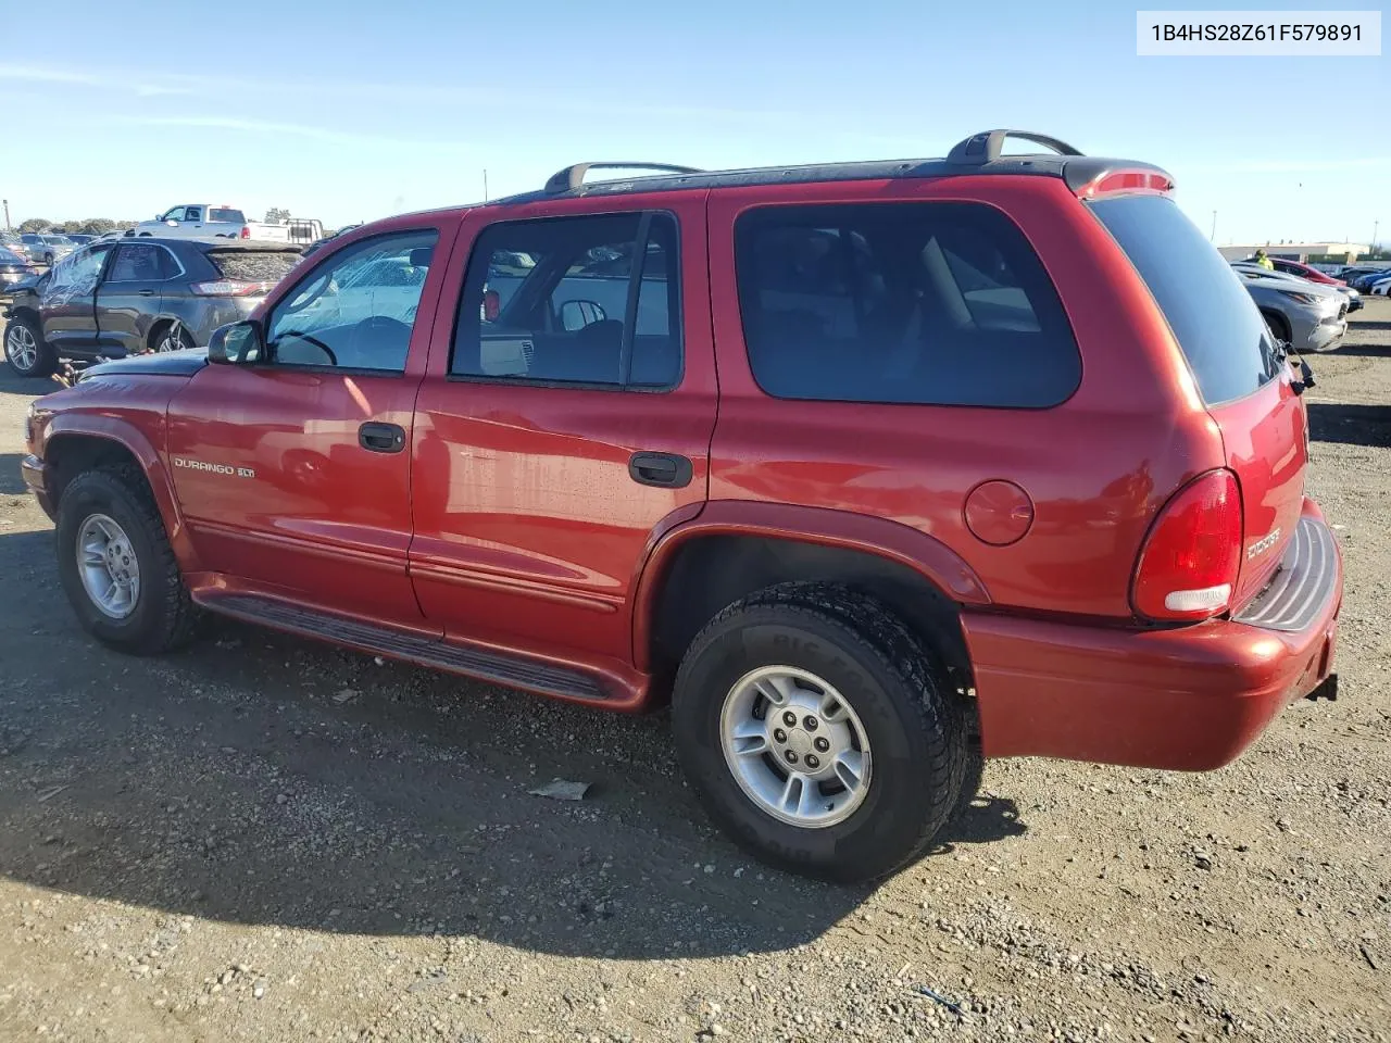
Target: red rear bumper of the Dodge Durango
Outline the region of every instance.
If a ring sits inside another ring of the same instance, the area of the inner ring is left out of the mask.
[[[1305,519],[1326,531],[1312,501]],[[1299,630],[1224,619],[1138,631],[967,613],[986,757],[1175,770],[1230,763],[1333,670],[1337,547],[1314,567],[1323,572],[1287,584],[1313,599]]]

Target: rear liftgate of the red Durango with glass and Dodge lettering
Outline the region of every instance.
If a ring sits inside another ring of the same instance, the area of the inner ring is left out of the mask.
[[[1149,286],[1209,414],[1242,501],[1239,608],[1267,583],[1303,509],[1308,414],[1231,266],[1167,196],[1088,204]]]

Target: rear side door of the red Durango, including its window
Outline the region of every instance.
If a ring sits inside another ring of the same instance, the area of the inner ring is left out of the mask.
[[[704,196],[615,204],[465,223],[445,284],[458,310],[441,312],[416,412],[410,545],[420,606],[448,636],[629,662],[645,548],[705,502]]]

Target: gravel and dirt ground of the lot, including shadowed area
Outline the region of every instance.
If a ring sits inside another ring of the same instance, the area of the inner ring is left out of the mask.
[[[989,765],[874,890],[718,837],[664,718],[78,631],[0,384],[0,1039],[1391,1037],[1391,303],[1313,359],[1337,704],[1202,776]],[[527,794],[594,783],[579,804]],[[926,985],[960,1012],[915,989]]]

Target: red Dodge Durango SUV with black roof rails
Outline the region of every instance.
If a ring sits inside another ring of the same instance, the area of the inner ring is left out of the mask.
[[[72,605],[669,698],[711,815],[833,879],[981,754],[1227,763],[1335,681],[1305,382],[1164,171],[1018,136],[357,228],[36,403]]]

